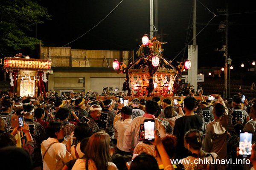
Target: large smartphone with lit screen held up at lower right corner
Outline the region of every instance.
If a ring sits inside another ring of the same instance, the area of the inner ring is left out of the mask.
[[[242,131],[239,135],[239,156],[250,157],[252,152],[253,133]]]

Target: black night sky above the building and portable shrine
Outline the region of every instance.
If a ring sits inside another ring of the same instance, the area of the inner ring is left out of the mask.
[[[52,20],[38,25],[38,39],[45,46],[64,46],[85,34],[106,17],[121,0],[42,0]],[[236,3],[239,2],[239,3]],[[228,53],[233,65],[256,60],[256,11],[253,4],[244,1],[228,3],[228,20],[232,23],[228,32]],[[225,20],[225,0],[197,1],[198,67],[222,67],[223,52],[215,51],[224,45],[224,33],[218,32],[218,24]],[[176,62],[187,58],[183,48],[192,40],[193,0],[158,0],[158,34],[163,38],[163,57]],[[250,13],[253,12],[253,13]],[[213,14],[212,14],[213,13]],[[213,16],[215,16],[213,18]],[[213,18],[213,19],[212,19]],[[209,21],[211,22],[209,23]],[[99,25],[78,40],[66,45],[72,49],[134,50],[141,45],[144,34],[149,35],[149,0],[123,0]],[[206,26],[206,24],[209,25]],[[192,44],[192,42],[190,43]],[[180,53],[180,54],[179,54]],[[179,54],[179,55],[178,55]],[[136,58],[135,54],[134,57]]]

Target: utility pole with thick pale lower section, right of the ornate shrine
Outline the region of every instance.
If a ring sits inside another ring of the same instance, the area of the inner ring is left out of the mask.
[[[188,59],[191,62],[191,68],[188,70],[188,81],[197,91],[198,77],[198,45],[196,45],[196,0],[193,6],[193,45],[188,46]]]

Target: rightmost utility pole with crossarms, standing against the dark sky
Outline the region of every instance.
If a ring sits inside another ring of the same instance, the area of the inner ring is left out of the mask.
[[[224,65],[224,89],[225,89],[225,96],[224,98],[227,98],[227,42],[228,42],[228,8],[226,7],[226,11],[218,11],[218,12],[224,12],[225,15],[226,15],[226,20],[224,22],[224,24],[220,24],[219,26],[219,30],[221,31],[225,31],[225,45],[223,45],[223,48],[221,50],[218,50],[217,51],[224,51],[224,54],[223,56],[225,57],[225,65]],[[225,27],[225,29],[221,29]]]

